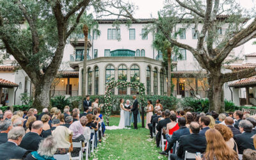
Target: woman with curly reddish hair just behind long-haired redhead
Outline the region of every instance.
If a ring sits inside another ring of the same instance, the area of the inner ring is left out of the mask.
[[[235,150],[238,154],[236,141],[233,139],[233,134],[230,128],[223,124],[216,124],[214,125],[214,129],[217,129],[220,132],[220,134],[223,136],[224,141],[226,142],[226,145],[229,148]]]

